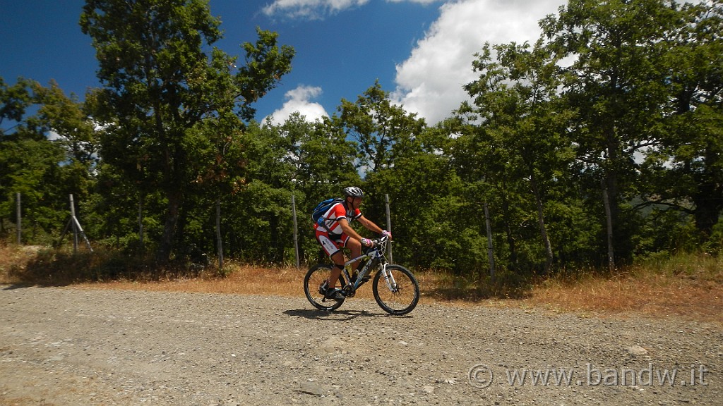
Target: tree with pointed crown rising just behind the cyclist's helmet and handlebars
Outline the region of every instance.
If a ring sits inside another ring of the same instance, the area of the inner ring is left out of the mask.
[[[338,111],[340,114],[333,117],[333,123],[356,144],[356,165],[364,177],[362,187],[368,195],[363,208],[364,216],[384,228],[385,195],[388,194],[390,204],[395,207],[395,216],[391,220],[395,246],[399,248],[398,257],[406,255],[403,254],[405,249],[422,252],[426,239],[412,242],[407,240],[407,236],[419,236],[413,230],[420,217],[410,215],[409,210],[411,207],[426,210],[429,208],[427,198],[434,194],[433,188],[424,191],[424,181],[431,184],[432,178],[422,179],[416,172],[424,168],[422,163],[428,158],[429,150],[424,150],[422,142],[427,124],[416,113],[408,113],[403,106],[395,105],[378,81],[359,95],[355,103],[341,100]],[[427,169],[431,171],[432,167]],[[424,249],[427,247],[424,246]],[[407,251],[409,259],[414,258],[411,252]]]

